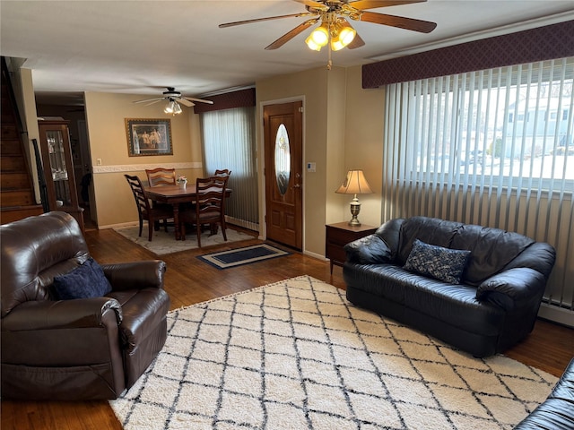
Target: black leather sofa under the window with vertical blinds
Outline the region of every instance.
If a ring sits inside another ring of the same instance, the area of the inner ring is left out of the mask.
[[[468,253],[455,282],[407,269],[416,240],[445,249],[439,267]],[[551,245],[499,228],[444,219],[391,219],[345,245],[346,296],[462,349],[487,357],[515,345],[534,328],[555,260]]]

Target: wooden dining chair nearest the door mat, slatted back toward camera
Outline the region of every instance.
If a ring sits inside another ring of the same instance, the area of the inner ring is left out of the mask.
[[[225,188],[229,176],[198,177],[196,179],[196,205],[187,211],[179,211],[181,240],[186,240],[186,224],[196,227],[197,246],[201,248],[201,226],[219,224],[223,239],[227,241],[225,224]],[[214,228],[212,227],[212,231]]]

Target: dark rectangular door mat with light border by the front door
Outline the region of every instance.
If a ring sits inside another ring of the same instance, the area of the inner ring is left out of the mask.
[[[203,262],[211,264],[219,270],[230,269],[230,267],[242,266],[244,264],[251,264],[252,262],[262,262],[270,258],[283,257],[289,255],[283,249],[275,248],[274,246],[261,244],[253,246],[245,246],[243,248],[230,249],[229,251],[222,251],[219,253],[198,255],[197,258]]]

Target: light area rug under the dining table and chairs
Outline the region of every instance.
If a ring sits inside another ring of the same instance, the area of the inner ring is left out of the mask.
[[[173,227],[168,228],[167,233],[165,229],[161,227],[159,230],[153,231],[151,242],[147,240],[148,230],[146,223],[143,224],[142,236],[139,236],[139,226],[114,228],[114,230],[117,231],[117,233],[120,235],[125,236],[131,241],[135,242],[135,244],[143,246],[145,249],[152,251],[152,253],[156,255],[178,253],[179,251],[187,251],[188,249],[197,248],[196,230],[186,231],[186,240],[176,240]],[[208,230],[202,232],[202,248],[254,238],[254,236],[250,236],[241,231],[234,230],[233,228],[226,228],[225,234],[227,236],[227,241],[223,239],[221,228],[218,228],[217,234],[213,236]]]

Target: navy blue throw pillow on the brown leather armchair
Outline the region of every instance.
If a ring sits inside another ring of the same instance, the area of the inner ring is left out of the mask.
[[[59,300],[102,297],[111,291],[111,285],[100,264],[90,258],[73,271],[55,277],[52,291]]]

